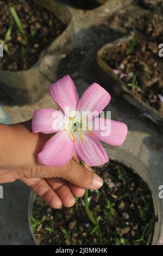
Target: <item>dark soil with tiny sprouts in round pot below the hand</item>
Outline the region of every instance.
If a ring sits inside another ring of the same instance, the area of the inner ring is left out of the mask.
[[[156,217],[147,184],[139,175],[111,161],[95,168],[104,179],[100,190],[90,191],[90,209],[99,222],[104,245],[147,245],[152,243]],[[98,245],[95,227],[86,215],[83,199],[73,208],[54,210],[36,197],[32,227],[41,245]]]

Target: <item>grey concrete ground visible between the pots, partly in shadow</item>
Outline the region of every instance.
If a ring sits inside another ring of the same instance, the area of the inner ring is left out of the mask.
[[[79,95],[92,82],[99,82],[103,86],[98,74],[93,74],[93,63],[96,53],[102,45],[117,37],[117,33],[108,32],[103,23],[115,10],[127,7],[131,0],[115,0],[105,3],[103,7],[93,11],[71,9],[74,15],[74,30],[76,32],[76,47],[63,57],[58,78],[70,74]],[[109,86],[109,85],[108,85]],[[124,121],[128,125],[128,136],[122,148],[138,156],[145,162],[155,175],[159,185],[163,184],[163,135],[158,127],[126,101],[119,99],[112,93],[111,102],[107,110],[111,111],[111,118]],[[10,123],[32,118],[35,108],[54,107],[54,102],[46,94],[39,102],[32,106],[4,106],[8,112]],[[24,145],[25,147],[25,145]],[[1,245],[32,245],[34,244],[28,227],[28,199],[30,190],[17,181],[5,184],[4,199],[0,199],[0,244]]]

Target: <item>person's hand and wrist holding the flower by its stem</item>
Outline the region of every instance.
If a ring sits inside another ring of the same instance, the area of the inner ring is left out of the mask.
[[[37,163],[37,154],[52,135],[33,134],[30,127],[31,121],[0,127],[5,135],[0,149],[0,182],[21,179],[52,208],[70,207],[75,203],[74,196],[82,197],[85,188],[102,186],[102,179],[90,167],[84,168],[77,156],[61,167]]]

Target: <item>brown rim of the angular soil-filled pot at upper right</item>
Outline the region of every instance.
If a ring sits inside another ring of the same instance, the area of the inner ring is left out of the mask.
[[[115,48],[117,45],[128,44],[135,38],[135,34],[132,33],[127,37],[120,38],[111,42],[110,44],[104,45],[97,53],[97,63],[99,66],[99,74],[103,77],[106,88],[108,88],[107,84],[111,84],[112,89],[114,89],[115,93],[121,95],[126,99],[129,103],[139,108],[140,111],[149,119],[151,119],[154,123],[163,126],[163,113],[158,111],[158,109],[150,106],[145,101],[142,101],[139,96],[133,94],[131,90],[127,88],[122,79],[115,74],[112,68],[104,61],[104,54],[109,52],[111,49]],[[102,74],[101,74],[102,72]]]

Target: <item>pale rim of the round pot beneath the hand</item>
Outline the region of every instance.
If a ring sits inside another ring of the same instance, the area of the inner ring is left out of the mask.
[[[158,217],[158,221],[155,223],[152,244],[153,245],[160,244],[163,239],[163,223],[162,223],[163,205],[162,205],[161,199],[158,198],[158,184],[152,173],[152,170],[149,169],[143,162],[141,162],[139,158],[128,153],[126,150],[122,150],[120,148],[108,147],[108,146],[104,146],[104,147],[106,152],[109,155],[110,160],[116,161],[132,169],[136,174],[140,175],[140,177],[148,184],[148,187],[152,193],[155,216]],[[37,241],[33,233],[32,223],[30,218],[32,216],[33,204],[34,204],[35,198],[36,198],[36,194],[34,192],[31,192],[30,199],[29,199],[29,206],[28,206],[28,221],[29,221],[30,232],[33,236],[33,239],[36,245],[39,245],[39,242]],[[106,236],[106,234],[104,235]]]

